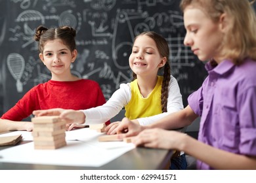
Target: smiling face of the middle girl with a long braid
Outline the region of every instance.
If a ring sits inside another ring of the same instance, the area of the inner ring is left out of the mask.
[[[157,76],[158,69],[166,63],[161,57],[156,42],[147,35],[140,35],[133,44],[129,65],[137,76]]]

